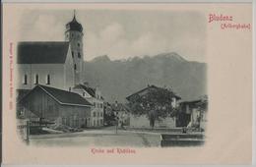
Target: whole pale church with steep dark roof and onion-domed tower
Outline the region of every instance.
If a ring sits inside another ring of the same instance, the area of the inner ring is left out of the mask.
[[[83,28],[76,16],[66,25],[65,41],[24,41],[18,43],[17,88],[37,84],[71,90],[81,83],[83,69]]]

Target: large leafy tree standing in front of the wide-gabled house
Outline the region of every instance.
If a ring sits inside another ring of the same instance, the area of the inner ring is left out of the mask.
[[[177,111],[171,104],[173,97],[174,93],[167,88],[149,88],[143,95],[136,94],[130,98],[128,106],[135,116],[146,114],[154,128],[156,120],[176,115]]]

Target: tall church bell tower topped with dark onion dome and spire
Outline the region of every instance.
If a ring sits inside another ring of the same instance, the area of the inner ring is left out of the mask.
[[[73,68],[75,73],[75,85],[81,83],[84,62],[83,51],[83,27],[76,20],[76,12],[71,22],[66,25],[65,40],[70,42]]]

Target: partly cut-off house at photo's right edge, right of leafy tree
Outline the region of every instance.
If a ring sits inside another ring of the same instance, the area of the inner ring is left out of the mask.
[[[177,127],[195,127],[205,129],[207,122],[207,96],[197,100],[182,101],[177,114]]]

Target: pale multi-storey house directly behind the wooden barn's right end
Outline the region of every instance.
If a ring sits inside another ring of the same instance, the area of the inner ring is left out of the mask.
[[[80,94],[83,98],[93,104],[91,110],[91,127],[102,127],[103,126],[103,97],[98,86],[93,88],[88,83],[80,83],[72,88],[72,91]]]

